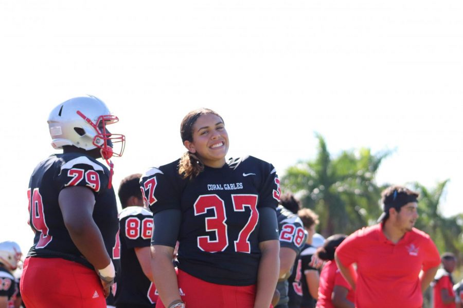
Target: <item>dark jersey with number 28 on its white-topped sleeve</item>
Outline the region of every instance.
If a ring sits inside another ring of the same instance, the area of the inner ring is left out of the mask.
[[[291,248],[296,252],[296,260],[299,257],[302,246],[307,240],[307,232],[300,218],[290,210],[278,205],[276,208],[279,230],[280,247]],[[280,293],[278,305],[287,304],[288,280],[277,283],[277,290]]]

